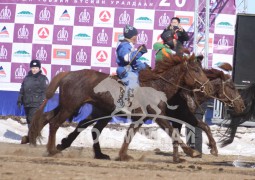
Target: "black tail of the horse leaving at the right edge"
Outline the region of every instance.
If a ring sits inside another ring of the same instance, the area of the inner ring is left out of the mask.
[[[244,100],[245,110],[240,114],[230,114],[231,121],[228,125],[228,129],[225,132],[227,137],[221,140],[221,146],[227,146],[228,144],[232,143],[237,127],[244,123],[245,121],[251,120],[255,118],[255,83],[250,84],[247,88],[241,91],[241,97]]]

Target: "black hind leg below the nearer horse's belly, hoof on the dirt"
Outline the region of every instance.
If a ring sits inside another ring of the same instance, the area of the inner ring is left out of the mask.
[[[102,130],[110,122],[111,118],[98,121],[92,129],[92,138],[94,141],[93,149],[95,153],[95,159],[108,159],[110,156],[103,154],[99,144],[99,136],[101,135]]]

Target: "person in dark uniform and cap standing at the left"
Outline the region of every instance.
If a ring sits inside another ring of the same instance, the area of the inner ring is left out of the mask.
[[[41,71],[41,62],[32,60],[30,62],[30,71],[21,84],[17,101],[19,108],[21,108],[21,105],[24,106],[28,128],[31,126],[35,111],[45,99],[45,90],[48,84],[48,78]],[[23,136],[21,144],[28,142],[28,136]]]

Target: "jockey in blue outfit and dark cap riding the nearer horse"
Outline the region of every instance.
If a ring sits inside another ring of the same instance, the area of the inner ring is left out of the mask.
[[[123,102],[127,102],[129,106],[132,102],[135,89],[139,86],[138,75],[142,69],[146,68],[146,64],[141,62],[139,58],[147,52],[145,45],[135,49],[137,29],[130,25],[126,25],[123,29],[124,39],[120,40],[117,47],[116,62],[118,64],[117,75],[126,85]],[[125,103],[122,103],[125,105]],[[123,107],[124,105],[121,105]]]

